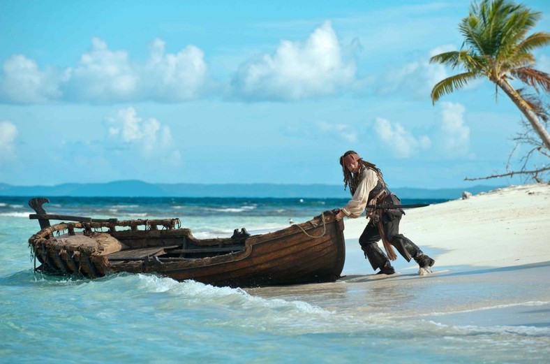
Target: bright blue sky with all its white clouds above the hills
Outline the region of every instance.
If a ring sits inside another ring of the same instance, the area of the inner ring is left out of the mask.
[[[550,2],[523,3],[549,31]],[[0,0],[0,183],[341,184],[346,150],[390,187],[521,183],[464,181],[505,171],[521,114],[502,92],[431,103],[456,71],[429,58],[461,47],[469,6]]]

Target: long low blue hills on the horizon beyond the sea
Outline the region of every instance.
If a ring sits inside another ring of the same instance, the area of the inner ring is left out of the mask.
[[[479,194],[498,187],[468,189],[392,189],[401,198],[461,198],[463,191]],[[348,191],[330,184],[151,184],[137,180],[107,183],[66,183],[55,186],[12,186],[0,183],[0,196],[75,197],[256,197],[256,198],[348,198]]]

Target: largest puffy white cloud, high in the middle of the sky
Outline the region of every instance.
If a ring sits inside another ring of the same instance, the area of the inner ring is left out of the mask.
[[[355,78],[355,64],[345,62],[330,22],[305,43],[282,41],[275,54],[242,65],[232,86],[252,100],[299,100],[333,94]]]

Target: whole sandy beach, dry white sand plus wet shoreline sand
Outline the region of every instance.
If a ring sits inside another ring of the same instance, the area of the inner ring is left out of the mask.
[[[366,222],[364,216],[345,219],[345,277],[339,281],[253,291],[389,320],[550,330],[549,184],[406,210],[401,233],[436,259],[426,276],[401,256],[393,263],[395,275],[374,275],[358,242]]]

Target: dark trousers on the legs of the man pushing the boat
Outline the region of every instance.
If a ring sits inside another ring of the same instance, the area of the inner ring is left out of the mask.
[[[407,261],[412,258],[418,262],[424,256],[422,250],[414,242],[399,233],[399,221],[401,221],[402,216],[403,213],[399,210],[385,211],[382,214],[382,229],[389,244],[394,246],[403,258]],[[373,270],[381,269],[384,265],[391,265],[386,254],[378,246],[380,238],[378,225],[373,223],[373,219],[370,219],[369,224],[366,224],[363,233],[359,237],[359,244],[365,253],[366,259],[369,259]]]

